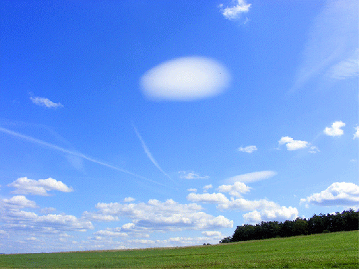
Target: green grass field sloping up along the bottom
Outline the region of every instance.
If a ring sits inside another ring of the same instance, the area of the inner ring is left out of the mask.
[[[243,243],[0,255],[0,268],[359,268],[359,231]]]

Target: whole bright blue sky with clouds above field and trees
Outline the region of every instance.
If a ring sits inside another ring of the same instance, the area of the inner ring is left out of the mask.
[[[1,0],[0,253],[358,210],[358,9]]]

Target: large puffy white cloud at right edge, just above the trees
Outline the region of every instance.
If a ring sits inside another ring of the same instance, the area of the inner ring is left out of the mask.
[[[359,186],[354,183],[335,182],[326,190],[300,199],[300,204],[317,206],[359,206]]]

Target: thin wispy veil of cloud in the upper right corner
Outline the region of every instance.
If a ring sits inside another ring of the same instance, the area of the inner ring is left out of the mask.
[[[313,77],[358,75],[358,1],[328,1],[314,19],[291,91]]]

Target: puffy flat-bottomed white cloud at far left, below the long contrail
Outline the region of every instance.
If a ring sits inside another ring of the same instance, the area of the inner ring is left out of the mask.
[[[33,180],[29,178],[17,178],[13,183],[8,184],[8,187],[15,187],[11,193],[14,194],[34,194],[41,196],[48,196],[47,192],[51,190],[58,190],[59,192],[72,192],[72,187],[66,186],[61,181],[54,178]]]

